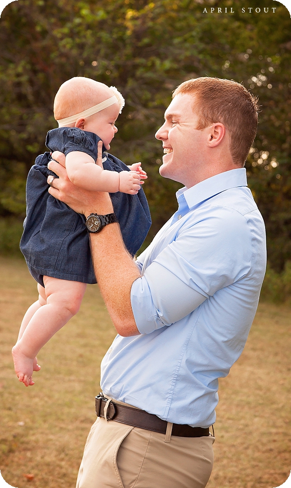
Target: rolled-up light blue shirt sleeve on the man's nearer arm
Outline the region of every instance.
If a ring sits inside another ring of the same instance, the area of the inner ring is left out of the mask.
[[[131,305],[141,334],[186,317],[250,268],[246,219],[229,208],[181,229],[131,287]]]

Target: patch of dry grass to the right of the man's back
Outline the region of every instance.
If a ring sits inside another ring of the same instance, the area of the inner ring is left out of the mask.
[[[291,308],[260,304],[243,354],[220,381],[207,488],[273,488],[291,470]]]

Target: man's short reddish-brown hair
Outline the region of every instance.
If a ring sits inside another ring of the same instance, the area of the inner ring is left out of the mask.
[[[230,133],[233,162],[243,166],[257,131],[257,98],[241,83],[210,77],[184,81],[174,90],[173,98],[184,93],[195,95],[193,110],[199,118],[196,129],[223,123]]]

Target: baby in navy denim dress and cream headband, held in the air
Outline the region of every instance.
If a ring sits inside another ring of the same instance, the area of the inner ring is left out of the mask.
[[[83,77],[66,81],[54,102],[59,128],[48,132],[46,146],[65,154],[72,183],[110,192],[125,246],[134,255],[151,224],[140,186],[146,174],[141,163],[126,166],[106,152],[124,103],[115,87]],[[97,161],[101,140],[103,167]],[[47,191],[48,176],[57,177],[47,168],[50,160],[50,152],[37,157],[26,185],[21,251],[38,282],[39,299],[26,311],[12,349],[15,372],[25,386],[34,385],[32,373],[40,370],[36,355],[41,347],[78,312],[86,283],[96,283],[84,216]]]

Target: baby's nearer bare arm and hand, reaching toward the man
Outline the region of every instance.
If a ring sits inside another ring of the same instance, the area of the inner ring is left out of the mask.
[[[136,171],[107,171],[81,151],[67,154],[66,170],[70,181],[86,190],[110,193],[122,191],[134,195],[140,189],[141,176]]]

